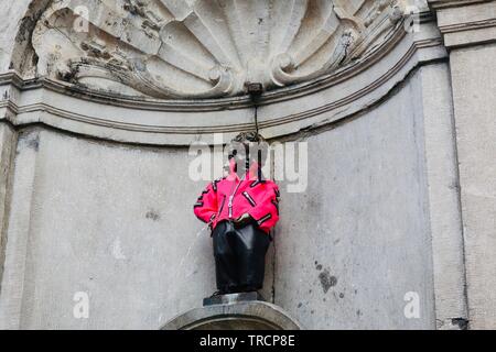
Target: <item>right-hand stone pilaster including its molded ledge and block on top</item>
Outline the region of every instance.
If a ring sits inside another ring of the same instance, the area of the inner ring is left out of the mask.
[[[468,315],[496,327],[496,1],[430,1],[450,48]]]

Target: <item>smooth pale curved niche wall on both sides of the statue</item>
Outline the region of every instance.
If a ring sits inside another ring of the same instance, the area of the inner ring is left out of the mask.
[[[309,189],[281,184],[276,282],[269,258],[263,294],[306,328],[433,327],[420,75],[366,114],[304,138]],[[3,324],[154,329],[200,305],[215,278],[211,239],[192,213],[204,183],[190,180],[190,161],[182,147],[21,130]],[[89,293],[88,320],[73,317],[77,292]],[[409,292],[420,319],[405,318]]]

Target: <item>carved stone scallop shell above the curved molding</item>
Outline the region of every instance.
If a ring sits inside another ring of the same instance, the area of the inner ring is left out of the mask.
[[[54,0],[32,44],[41,76],[154,98],[308,81],[380,43],[398,0]]]

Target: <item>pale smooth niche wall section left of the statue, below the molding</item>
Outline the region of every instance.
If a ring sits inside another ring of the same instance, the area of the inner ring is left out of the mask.
[[[212,294],[212,239],[192,208],[205,183],[190,180],[188,161],[185,148],[22,132],[0,327],[158,329]],[[269,300],[271,272],[269,253]],[[78,292],[88,319],[73,315]]]

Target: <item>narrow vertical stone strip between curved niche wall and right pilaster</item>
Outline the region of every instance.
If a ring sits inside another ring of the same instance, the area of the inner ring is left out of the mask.
[[[436,327],[460,329],[468,311],[460,207],[456,139],[448,65],[422,68],[429,218],[432,238]],[[441,84],[444,82],[444,84]]]

